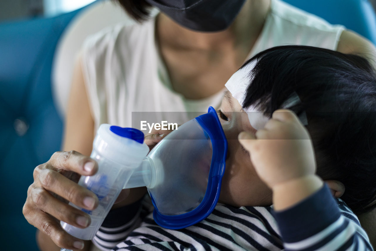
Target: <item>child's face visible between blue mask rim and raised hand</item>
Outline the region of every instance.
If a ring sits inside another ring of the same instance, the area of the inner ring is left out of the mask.
[[[230,92],[226,92],[222,99],[218,117],[228,142],[220,202],[233,206],[271,205],[270,188],[256,174],[249,153],[238,141],[240,132],[255,133],[256,130],[250,125],[247,113]]]

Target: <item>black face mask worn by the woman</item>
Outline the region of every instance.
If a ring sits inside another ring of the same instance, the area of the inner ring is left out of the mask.
[[[171,19],[194,31],[222,31],[246,0],[146,0]]]

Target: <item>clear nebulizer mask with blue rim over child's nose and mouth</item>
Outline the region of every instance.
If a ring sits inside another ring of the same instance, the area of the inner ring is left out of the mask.
[[[124,188],[146,186],[158,225],[179,229],[205,219],[217,204],[227,140],[217,112],[209,107],[160,141]]]

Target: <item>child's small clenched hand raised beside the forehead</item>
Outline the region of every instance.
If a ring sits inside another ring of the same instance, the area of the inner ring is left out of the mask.
[[[259,177],[273,193],[277,188],[287,191],[285,188],[300,189],[299,186],[314,184],[308,189],[311,193],[322,185],[314,175],[316,163],[308,131],[290,110],[276,110],[256,136],[241,132],[239,141],[249,151]]]

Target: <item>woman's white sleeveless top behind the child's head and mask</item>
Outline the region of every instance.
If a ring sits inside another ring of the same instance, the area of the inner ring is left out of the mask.
[[[331,25],[280,0],[271,0],[263,30],[247,59],[287,44],[336,50],[343,30],[341,25]],[[139,128],[140,116],[148,122],[182,124],[197,116],[186,112],[206,112],[209,106],[220,106],[223,91],[200,100],[174,92],[154,31],[155,18],[142,24],[119,24],[85,41],[82,70],[96,129],[103,123]]]

